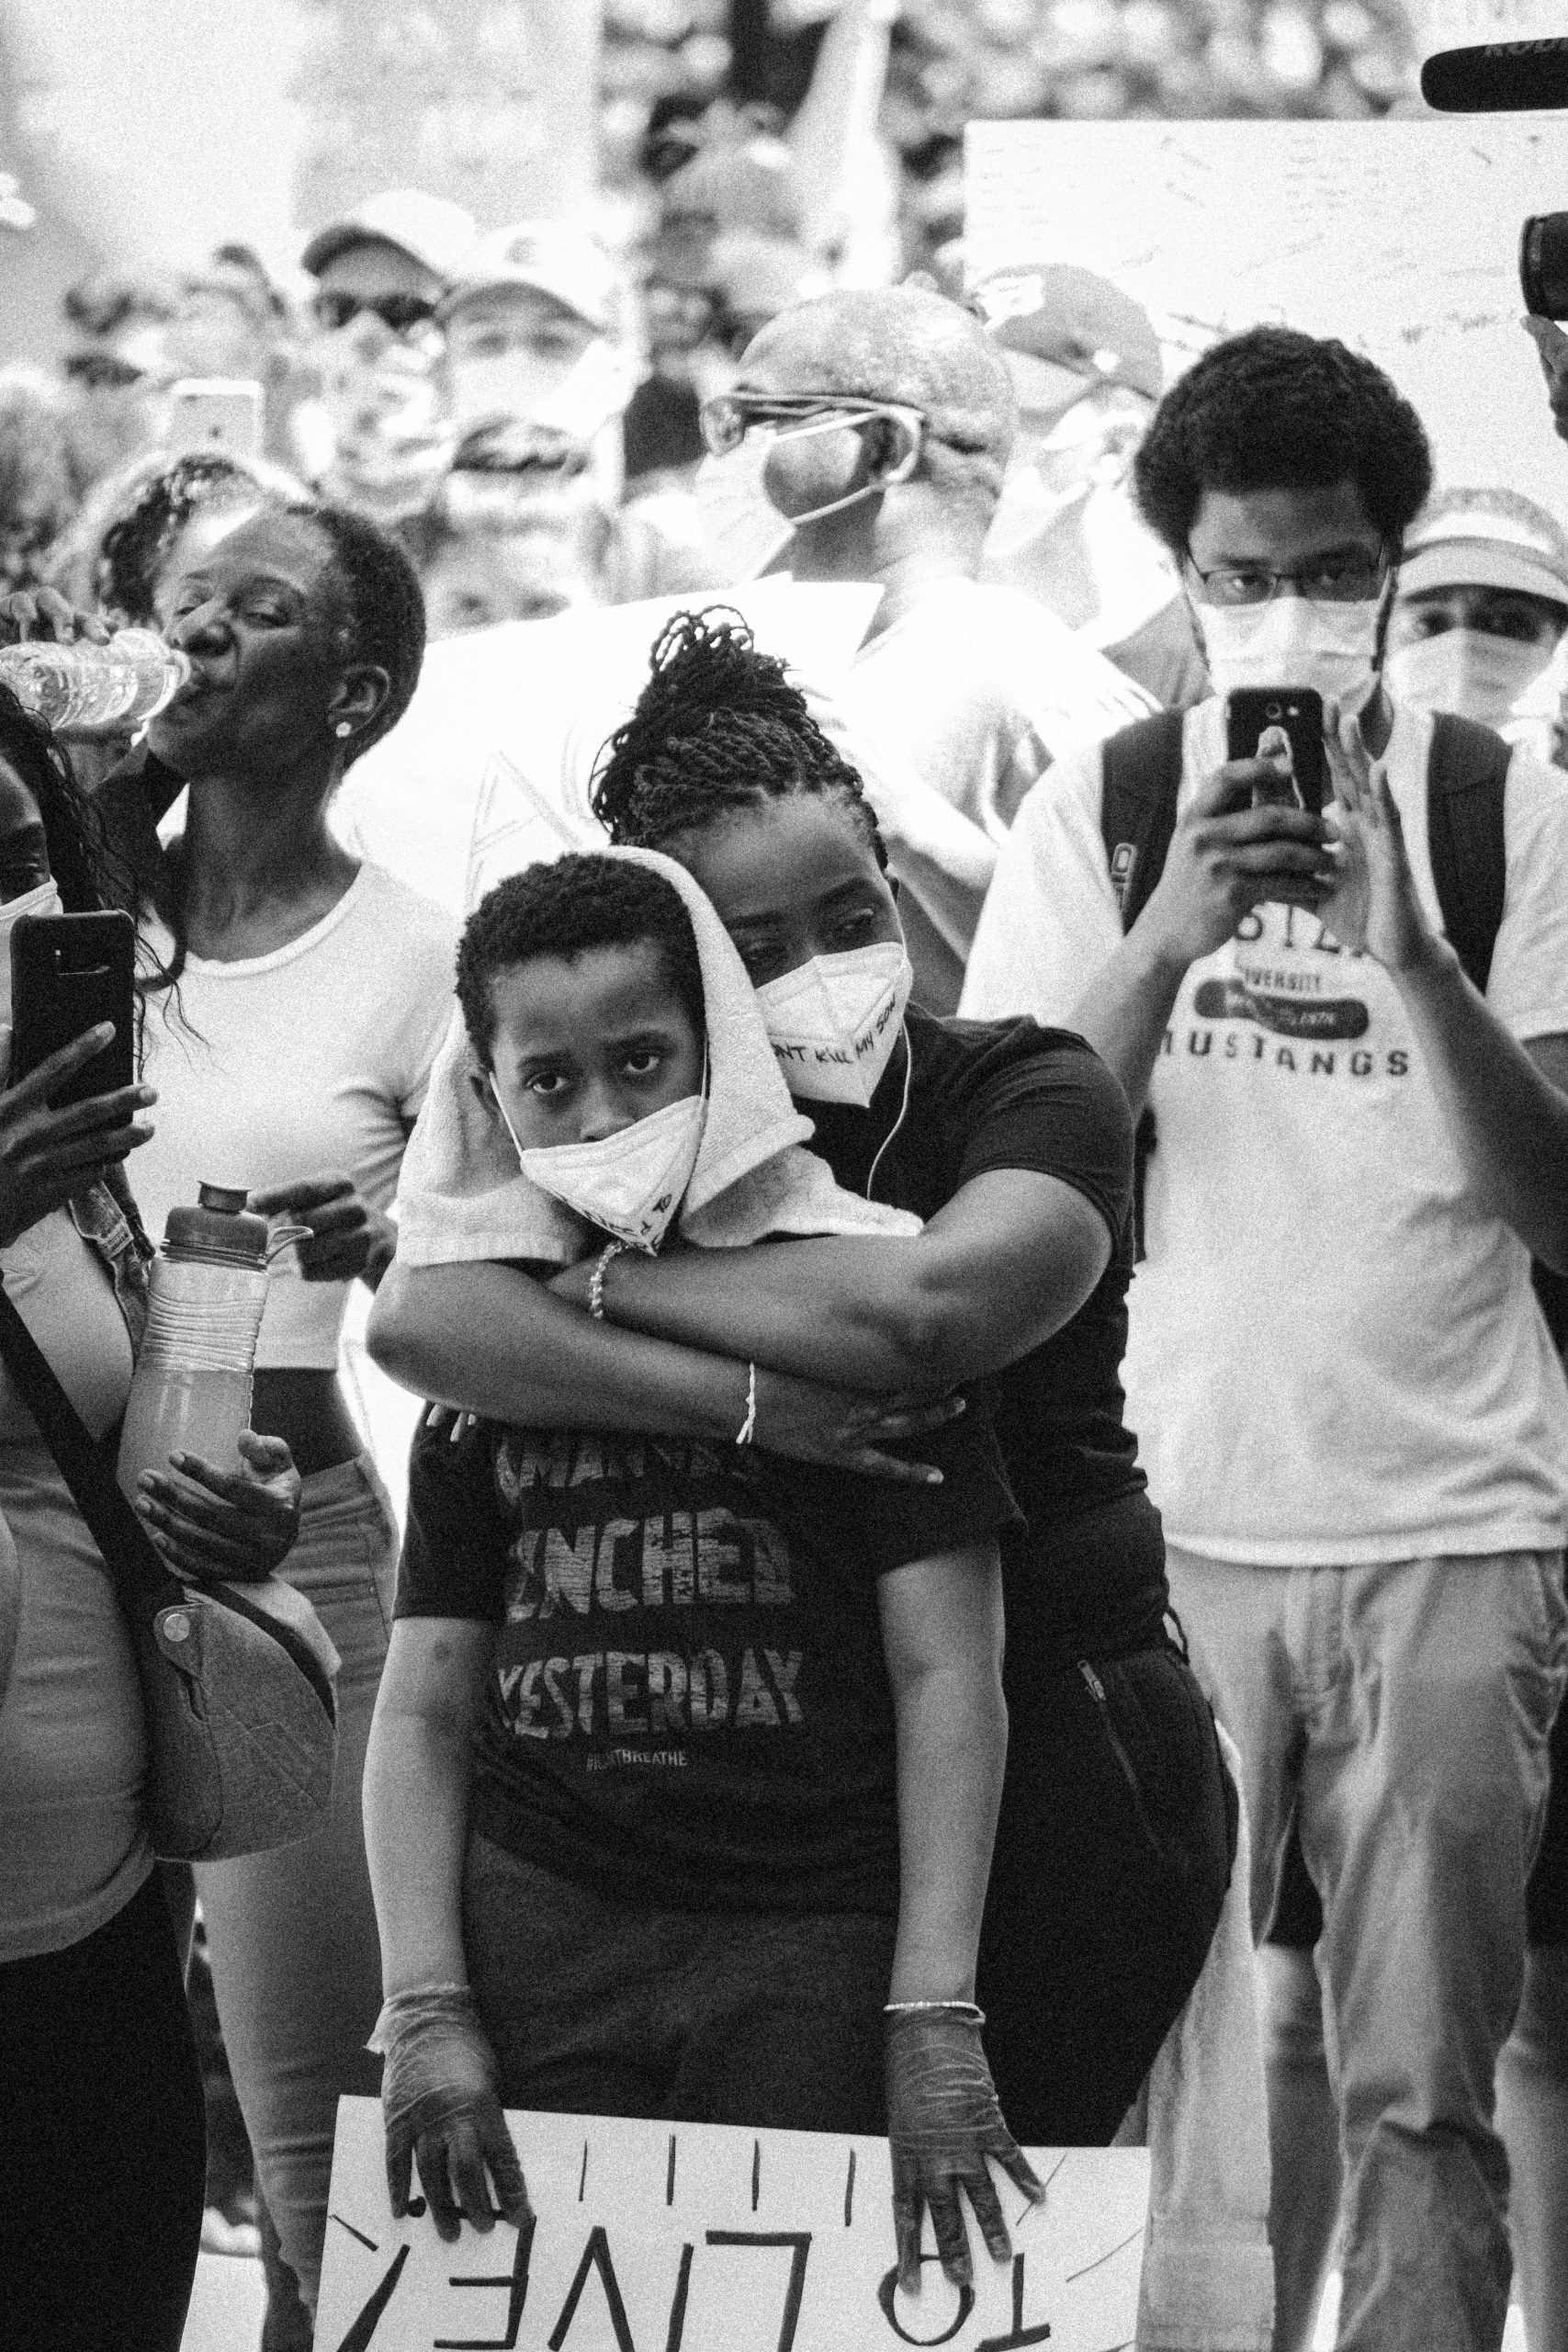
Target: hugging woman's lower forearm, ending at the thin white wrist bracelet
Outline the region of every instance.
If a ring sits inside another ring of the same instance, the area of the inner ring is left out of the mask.
[[[510,1265],[393,1261],[367,1345],[402,1388],[494,1421],[731,1439],[745,1362],[616,1331]]]

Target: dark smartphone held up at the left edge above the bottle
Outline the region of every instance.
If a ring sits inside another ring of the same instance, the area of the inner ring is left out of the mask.
[[[99,1021],[115,1023],[110,1044],[66,1080],[52,1110],[136,1077],[136,924],[120,910],[21,915],[12,929],[9,1084]]]

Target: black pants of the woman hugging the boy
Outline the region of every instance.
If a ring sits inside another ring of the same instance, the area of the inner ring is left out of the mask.
[[[1173,1649],[1013,1703],[978,1994],[1025,2147],[1114,2136],[1199,1978],[1234,1851],[1213,1715]]]

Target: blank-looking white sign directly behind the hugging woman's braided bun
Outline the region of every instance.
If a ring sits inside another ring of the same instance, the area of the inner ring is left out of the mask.
[[[769,579],[449,637],[428,649],[390,736],[350,767],[334,826],[355,854],[465,913],[475,880],[515,873],[534,847],[604,847],[588,779],[677,612],[736,607],[766,654],[832,691],[879,600],[879,588]]]

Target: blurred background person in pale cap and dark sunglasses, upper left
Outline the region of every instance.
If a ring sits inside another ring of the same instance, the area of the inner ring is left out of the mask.
[[[310,318],[324,447],[324,496],[383,527],[421,513],[442,480],[435,313],[475,242],[461,205],[393,188],[317,230],[301,254],[315,278]]]

